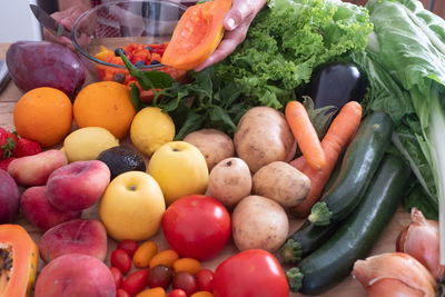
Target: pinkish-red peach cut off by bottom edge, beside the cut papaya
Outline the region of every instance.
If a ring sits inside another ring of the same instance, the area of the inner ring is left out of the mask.
[[[97,258],[68,254],[44,266],[36,283],[34,297],[60,296],[115,297],[116,284]]]

